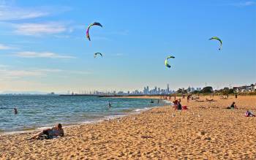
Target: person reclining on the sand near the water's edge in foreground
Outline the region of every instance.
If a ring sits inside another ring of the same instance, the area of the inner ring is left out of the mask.
[[[35,134],[33,137],[31,137],[31,140],[36,140],[42,135],[47,135],[48,138],[52,138],[53,136],[64,136],[64,130],[62,129],[61,123],[59,123],[57,126],[54,126],[51,129],[45,129],[42,132],[39,132],[38,134]]]

